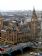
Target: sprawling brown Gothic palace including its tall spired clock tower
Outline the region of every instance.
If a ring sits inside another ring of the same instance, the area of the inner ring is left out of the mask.
[[[41,31],[41,23],[33,9],[31,21],[24,24],[10,20],[5,26],[3,17],[0,16],[0,43],[17,44],[28,41],[38,41]]]

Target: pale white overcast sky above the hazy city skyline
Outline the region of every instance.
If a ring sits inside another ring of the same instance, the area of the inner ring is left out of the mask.
[[[42,0],[0,0],[0,10],[42,10]]]

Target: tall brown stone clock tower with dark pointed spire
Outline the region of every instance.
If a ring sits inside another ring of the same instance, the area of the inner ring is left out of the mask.
[[[36,38],[38,37],[38,18],[35,9],[33,9],[33,14],[31,19],[31,37],[32,40],[36,40]]]

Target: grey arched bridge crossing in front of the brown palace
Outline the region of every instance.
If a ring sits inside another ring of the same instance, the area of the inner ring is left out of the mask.
[[[35,46],[34,46],[35,45]],[[23,49],[30,47],[30,48],[36,48],[36,44],[31,43],[31,42],[26,42],[26,43],[19,43],[17,45],[5,45],[1,46],[4,50],[0,51],[0,56],[8,54],[9,56],[12,56],[12,53],[19,50],[21,53],[23,53]]]

